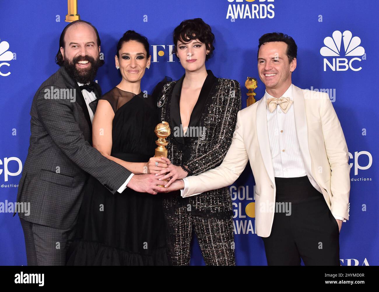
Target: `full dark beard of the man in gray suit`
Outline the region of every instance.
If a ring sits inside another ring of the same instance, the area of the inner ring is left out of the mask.
[[[91,66],[88,68],[77,68],[76,64],[78,61],[88,61],[91,63]],[[97,69],[103,65],[103,62],[99,57],[94,59],[91,56],[77,56],[72,59],[72,61],[68,60],[66,56],[64,56],[63,66],[66,69],[67,73],[70,75],[72,79],[79,83],[86,84],[95,79]]]

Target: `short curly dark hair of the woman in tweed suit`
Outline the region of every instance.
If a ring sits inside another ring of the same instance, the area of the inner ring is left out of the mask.
[[[180,25],[175,28],[174,33],[172,33],[172,38],[174,40],[172,54],[175,55],[177,53],[176,45],[178,40],[191,42],[191,40],[199,39],[200,42],[205,43],[205,48],[209,50],[209,54],[205,56],[205,61],[213,55],[213,51],[215,50],[215,47],[213,46],[215,35],[212,33],[211,27],[201,18],[183,20]]]

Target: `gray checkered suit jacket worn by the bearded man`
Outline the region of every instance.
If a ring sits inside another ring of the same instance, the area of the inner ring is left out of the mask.
[[[94,92],[100,97],[101,89],[95,86]],[[52,88],[76,89],[76,101],[46,99],[45,89]],[[96,108],[92,103],[90,106]],[[106,186],[112,196],[131,172],[91,146],[92,124],[85,100],[64,67],[39,87],[30,115],[30,146],[17,192],[17,202],[30,202],[30,215],[19,216],[68,229],[75,224],[89,175]]]

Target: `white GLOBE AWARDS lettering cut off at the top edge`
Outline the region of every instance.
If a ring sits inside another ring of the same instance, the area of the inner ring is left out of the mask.
[[[275,0],[227,0],[226,19],[261,19],[274,18]],[[255,3],[251,3],[255,2]],[[270,3],[271,2],[271,3]]]

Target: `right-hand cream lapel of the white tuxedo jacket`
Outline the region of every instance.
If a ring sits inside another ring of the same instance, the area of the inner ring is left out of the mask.
[[[305,169],[309,174],[312,175],[304,94],[303,91],[295,85],[293,85],[293,110],[295,115],[296,134],[298,135],[300,152],[304,161]]]

